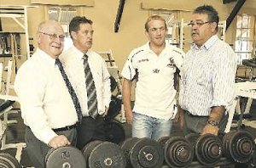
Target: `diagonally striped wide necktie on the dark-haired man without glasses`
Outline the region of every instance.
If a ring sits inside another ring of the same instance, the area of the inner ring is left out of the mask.
[[[90,71],[90,65],[88,63],[88,55],[84,54],[83,59],[84,59],[85,85],[86,85],[87,98],[88,98],[87,99],[88,113],[93,119],[96,119],[96,116],[98,115],[96,87]]]

